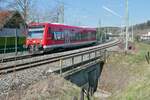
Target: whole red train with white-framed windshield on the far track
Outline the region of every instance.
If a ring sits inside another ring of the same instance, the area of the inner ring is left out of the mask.
[[[63,24],[32,23],[26,47],[30,52],[47,52],[96,43],[96,29]]]

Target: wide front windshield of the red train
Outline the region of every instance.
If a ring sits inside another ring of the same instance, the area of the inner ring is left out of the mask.
[[[43,38],[44,26],[30,27],[28,31],[28,38]]]

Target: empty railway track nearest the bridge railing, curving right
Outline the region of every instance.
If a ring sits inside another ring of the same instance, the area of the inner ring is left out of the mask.
[[[113,47],[115,45],[117,45],[119,43],[119,40],[116,41],[112,41],[109,43],[105,43],[102,44],[101,46],[97,46],[97,47],[93,47],[91,49],[88,50],[84,50],[84,51],[78,51],[78,52],[74,52],[74,53],[69,53],[69,54],[64,54],[64,55],[60,55],[60,56],[55,56],[55,57],[48,57],[45,59],[41,59],[41,60],[36,60],[36,61],[31,61],[31,62],[26,62],[26,63],[22,63],[22,64],[15,64],[15,65],[10,65],[7,67],[1,67],[0,68],[0,74],[8,74],[8,73],[12,73],[12,72],[16,72],[16,71],[21,71],[24,69],[28,69],[28,68],[33,68],[33,67],[37,67],[37,66],[43,66],[46,64],[50,64],[52,62],[57,62],[60,61],[60,59],[62,58],[67,58],[68,56],[72,56],[72,55],[82,55],[82,54],[86,54],[88,52],[92,52],[92,51],[96,51],[96,50],[100,50],[100,49],[106,49],[109,47]],[[18,58],[19,59],[19,58]]]

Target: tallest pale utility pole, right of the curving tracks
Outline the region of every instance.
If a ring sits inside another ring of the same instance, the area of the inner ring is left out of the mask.
[[[128,27],[129,27],[129,8],[128,8],[128,0],[126,0],[126,14],[125,14],[125,20],[126,20],[126,42],[125,42],[125,51],[128,50],[128,38],[129,38],[129,33],[128,33]]]

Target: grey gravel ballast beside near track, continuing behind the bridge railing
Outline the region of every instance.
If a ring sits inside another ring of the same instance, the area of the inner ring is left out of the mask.
[[[94,56],[91,56],[94,57]],[[88,60],[89,56],[83,56],[84,61]],[[81,56],[75,57],[74,63],[81,62]],[[72,59],[66,59],[63,61],[63,67],[69,66],[72,64]],[[51,64],[47,64],[44,66],[39,66],[36,68],[30,68],[19,72],[10,73],[7,75],[0,76],[0,95],[8,93],[10,90],[23,89],[28,87],[35,82],[43,80],[47,78],[47,73],[54,72],[59,70],[59,62],[54,62]]]

